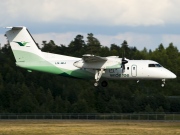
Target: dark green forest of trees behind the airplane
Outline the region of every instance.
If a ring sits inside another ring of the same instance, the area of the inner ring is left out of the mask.
[[[40,45],[39,45],[40,46]],[[180,112],[180,52],[170,43],[155,50],[138,50],[127,41],[101,45],[92,33],[84,39],[77,35],[69,45],[42,41],[42,51],[82,57],[125,56],[128,59],[151,59],[177,75],[161,81],[109,81],[106,88],[94,87],[94,80],[82,80],[48,73],[31,73],[16,67],[9,43],[0,49],[0,113],[139,113]]]

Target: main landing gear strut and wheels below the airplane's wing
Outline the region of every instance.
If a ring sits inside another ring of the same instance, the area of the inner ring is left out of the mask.
[[[100,80],[100,78],[101,78],[103,73],[105,73],[104,69],[96,70],[96,73],[95,73],[95,80],[96,80],[96,82],[94,83],[95,87],[97,87],[99,85],[99,80]],[[102,81],[101,82],[101,86],[106,87],[107,85],[108,85],[107,81]]]

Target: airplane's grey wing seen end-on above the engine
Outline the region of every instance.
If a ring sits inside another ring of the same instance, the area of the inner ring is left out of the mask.
[[[82,59],[87,63],[107,61],[107,58],[105,57],[100,57],[100,56],[95,56],[95,55],[90,55],[90,54],[83,55]]]

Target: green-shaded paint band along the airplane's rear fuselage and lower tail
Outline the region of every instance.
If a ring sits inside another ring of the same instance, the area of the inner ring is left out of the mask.
[[[15,54],[18,54],[17,57],[22,58],[20,61],[16,62],[16,65],[28,70],[36,70],[41,72],[47,72],[52,74],[59,74],[62,76],[71,76],[76,78],[94,78],[94,74],[88,71],[81,69],[69,70],[64,68],[59,68],[49,61],[43,59],[42,57],[25,51],[14,51]]]

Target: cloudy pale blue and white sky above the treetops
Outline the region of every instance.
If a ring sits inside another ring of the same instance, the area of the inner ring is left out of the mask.
[[[155,50],[169,43],[180,50],[180,0],[0,0],[0,43],[7,26],[26,26],[39,45],[68,45],[78,34],[93,33],[110,47]]]

